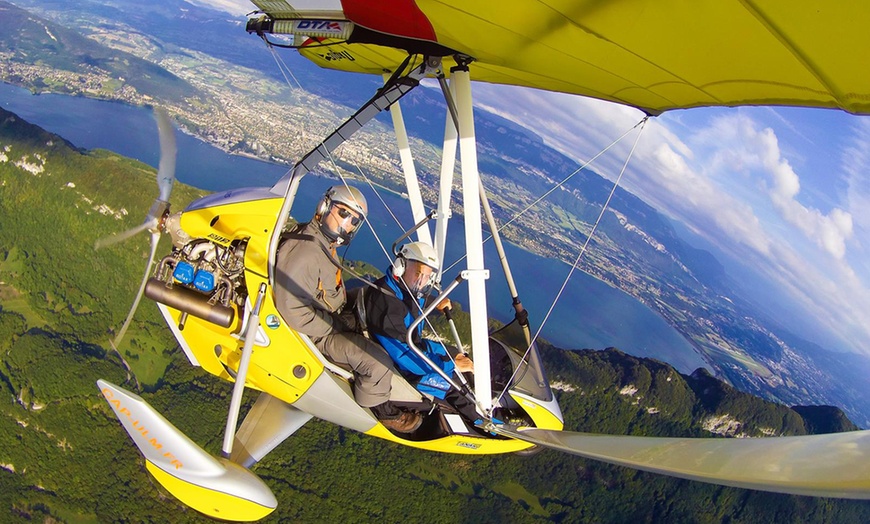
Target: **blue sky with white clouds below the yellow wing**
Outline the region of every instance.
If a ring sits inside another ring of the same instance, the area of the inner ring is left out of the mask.
[[[208,5],[234,15],[253,9],[246,0]],[[581,163],[644,116],[610,102],[512,86],[476,84],[474,98]],[[629,134],[593,169],[615,179],[635,137]],[[870,354],[868,172],[870,117],[700,108],[650,119],[621,185],[715,246],[775,320],[827,349]]]

